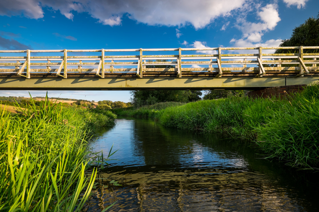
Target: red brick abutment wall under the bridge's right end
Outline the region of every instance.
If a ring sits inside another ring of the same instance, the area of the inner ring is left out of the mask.
[[[257,91],[249,91],[247,92],[247,95],[252,98],[268,98],[271,96],[283,97],[291,93],[301,92],[304,90],[304,87],[307,87],[307,85],[283,85],[271,88],[264,88]]]

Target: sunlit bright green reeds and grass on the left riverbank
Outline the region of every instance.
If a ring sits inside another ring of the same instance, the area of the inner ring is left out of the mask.
[[[0,109],[0,211],[82,209],[97,173],[87,141],[114,118],[48,100],[20,114]]]

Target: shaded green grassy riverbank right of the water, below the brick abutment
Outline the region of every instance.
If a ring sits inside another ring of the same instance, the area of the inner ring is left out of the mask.
[[[301,169],[319,168],[319,85],[288,98],[202,100],[164,109],[133,108],[119,115],[149,117],[165,127],[227,132],[251,140],[265,157]],[[142,115],[141,115],[142,114]]]

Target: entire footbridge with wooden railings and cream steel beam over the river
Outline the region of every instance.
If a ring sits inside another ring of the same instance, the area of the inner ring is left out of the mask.
[[[288,53],[273,53],[275,50]],[[0,50],[0,90],[261,89],[319,80],[319,46]],[[168,52],[168,53],[167,53]]]

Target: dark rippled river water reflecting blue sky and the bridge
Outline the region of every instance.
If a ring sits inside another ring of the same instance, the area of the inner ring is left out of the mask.
[[[89,211],[319,211],[318,174],[289,170],[222,134],[118,119],[93,151],[118,151]],[[110,186],[116,180],[122,186]],[[104,185],[104,186],[103,186]],[[108,185],[108,188],[104,188]]]

